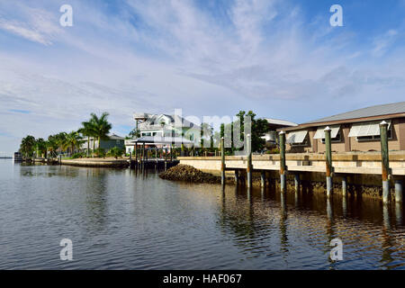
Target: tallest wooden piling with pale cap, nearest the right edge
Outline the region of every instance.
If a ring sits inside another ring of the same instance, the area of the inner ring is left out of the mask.
[[[390,160],[388,157],[388,123],[382,121],[380,123],[380,138],[381,138],[381,157],[382,157],[382,177],[383,177],[383,202],[386,203],[390,198]]]

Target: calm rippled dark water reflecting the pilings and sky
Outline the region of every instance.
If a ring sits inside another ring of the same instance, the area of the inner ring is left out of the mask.
[[[404,269],[403,209],[0,160],[0,269]],[[73,261],[59,241],[73,241]],[[344,260],[329,260],[341,238]]]

